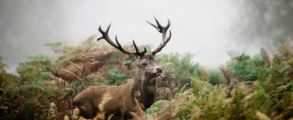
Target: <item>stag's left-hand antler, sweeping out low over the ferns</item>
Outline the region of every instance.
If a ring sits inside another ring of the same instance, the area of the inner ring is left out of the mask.
[[[111,22],[109,23],[109,25],[108,25],[106,31],[103,31],[102,28],[101,28],[101,22],[100,22],[100,20],[99,20],[99,28],[98,28],[98,30],[100,31],[100,33],[102,34],[102,36],[100,36],[100,37],[97,39],[97,41],[99,41],[100,39],[105,39],[110,45],[112,45],[113,47],[117,48],[118,50],[120,50],[121,52],[123,52],[123,53],[125,53],[125,54],[129,54],[129,53],[131,53],[131,54],[137,55],[137,56],[139,56],[139,57],[144,56],[144,54],[147,52],[146,47],[144,46],[144,51],[143,51],[143,52],[139,52],[138,49],[137,49],[137,46],[136,46],[135,43],[134,43],[134,39],[132,39],[132,42],[133,42],[133,45],[134,45],[134,48],[135,48],[136,52],[134,52],[134,51],[128,51],[128,50],[123,49],[122,46],[120,45],[120,43],[119,43],[118,40],[117,40],[117,33],[115,33],[115,40],[116,40],[116,43],[117,43],[117,44],[114,43],[114,42],[110,39],[110,37],[109,37],[109,35],[108,35],[108,31],[109,31],[109,28],[110,28],[110,26],[111,26],[111,23],[112,23],[112,20],[111,20]]]

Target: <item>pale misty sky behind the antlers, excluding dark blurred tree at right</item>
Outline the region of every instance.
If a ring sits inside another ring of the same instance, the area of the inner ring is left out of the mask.
[[[155,24],[154,14],[166,26],[168,13],[172,37],[160,53],[189,52],[195,54],[194,62],[217,68],[230,59],[229,50],[254,55],[265,47],[231,39],[237,6],[230,0],[0,0],[0,55],[11,72],[25,61],[23,56],[54,55],[45,43],[78,45],[99,33],[99,19],[103,30],[113,20],[110,38],[117,33],[122,44],[134,38],[137,45],[153,44],[155,48],[161,43],[161,33],[145,20]]]

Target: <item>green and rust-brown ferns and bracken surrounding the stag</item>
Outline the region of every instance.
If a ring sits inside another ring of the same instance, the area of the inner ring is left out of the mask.
[[[79,92],[131,82],[136,66],[128,55],[95,38],[77,47],[48,43],[58,57],[26,57],[17,75],[6,72],[0,56],[0,119],[82,119],[73,103]],[[264,49],[253,57],[229,51],[227,66],[211,70],[193,63],[193,54],[158,54],[164,73],[157,102],[144,110],[136,100],[134,119],[293,119],[292,39],[275,45],[272,56]]]

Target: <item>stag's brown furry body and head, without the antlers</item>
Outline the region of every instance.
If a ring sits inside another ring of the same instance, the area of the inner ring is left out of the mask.
[[[99,111],[98,105],[106,91],[109,91],[112,98],[105,103],[104,111],[105,119],[111,114],[114,119],[132,119],[130,112],[133,111],[136,103],[134,102],[134,91],[140,91],[141,95],[138,97],[139,103],[144,104],[145,109],[149,108],[156,102],[156,77],[161,75],[157,68],[158,61],[155,55],[144,55],[140,58],[133,54],[129,54],[130,60],[137,65],[137,74],[134,77],[134,82],[120,86],[92,86],[79,93],[74,98],[76,106],[85,107],[86,110],[80,108],[80,115],[86,119],[92,119]],[[143,65],[144,63],[144,65]]]

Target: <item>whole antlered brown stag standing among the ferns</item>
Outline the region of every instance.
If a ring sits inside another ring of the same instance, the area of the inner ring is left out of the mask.
[[[134,43],[134,39],[132,39],[132,42],[136,51],[125,50],[117,40],[117,33],[115,34],[115,40],[117,44],[114,43],[108,35],[112,20],[109,23],[106,31],[101,29],[99,20],[98,30],[102,35],[97,39],[97,41],[105,39],[113,47],[117,48],[125,54],[128,54],[130,60],[137,65],[137,72],[133,82],[120,86],[91,86],[79,93],[74,98],[73,102],[74,105],[78,106],[80,110],[80,116],[86,119],[93,119],[97,115],[97,112],[100,112],[98,105],[103,100],[103,96],[106,92],[110,94],[111,99],[104,104],[105,119],[107,119],[111,114],[113,114],[111,115],[111,120],[132,119],[133,117],[130,112],[134,112],[134,107],[137,106],[134,101],[134,91],[140,91],[141,95],[137,98],[137,100],[139,103],[144,105],[145,109],[151,107],[151,105],[156,102],[156,77],[163,73],[163,68],[159,66],[155,56],[156,53],[160,52],[162,48],[165,47],[171,38],[170,29],[169,37],[166,38],[166,33],[170,27],[168,14],[167,17],[168,24],[166,27],[163,27],[155,16],[154,18],[156,20],[157,26],[146,20],[160,33],[162,33],[161,44],[154,51],[152,51],[151,54],[146,54],[147,50],[144,45],[144,51],[139,51],[136,44]]]

